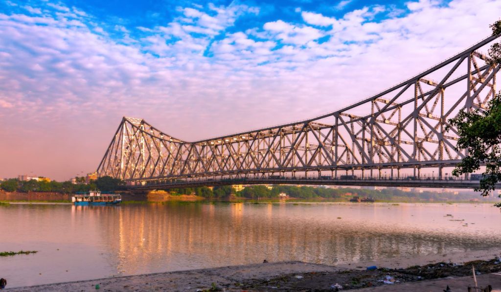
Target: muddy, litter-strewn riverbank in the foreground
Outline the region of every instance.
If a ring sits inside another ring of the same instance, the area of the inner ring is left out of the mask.
[[[11,291],[332,291],[342,290],[441,290],[449,285],[466,290],[473,286],[471,265],[475,266],[479,285],[501,288],[501,270],[497,258],[464,264],[437,262],[405,269],[344,269],[336,266],[287,261],[205,268],[165,273],[109,277],[94,280],[11,288]],[[494,273],[494,274],[492,274]],[[99,286],[97,286],[99,285]],[[381,287],[382,286],[382,287]],[[380,288],[377,288],[380,287]]]

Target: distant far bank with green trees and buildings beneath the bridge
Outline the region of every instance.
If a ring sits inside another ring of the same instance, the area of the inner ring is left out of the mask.
[[[31,202],[70,202],[72,194],[81,191],[101,190],[122,194],[123,201],[349,201],[357,196],[373,198],[376,202],[492,202],[497,196],[482,197],[470,190],[464,191],[431,191],[409,188],[356,188],[297,185],[251,185],[239,186],[239,190],[231,185],[196,188],[172,188],[168,190],[131,191],[125,182],[109,176],[100,177],[86,184],[70,181],[20,181],[8,179],[0,183],[0,201]]]

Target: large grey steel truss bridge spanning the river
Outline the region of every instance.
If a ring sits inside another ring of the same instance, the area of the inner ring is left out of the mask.
[[[501,66],[489,65],[483,53],[495,39],[368,99],[301,122],[186,142],[143,119],[124,117],[98,175],[139,188],[238,183],[473,187],[478,181],[451,180],[444,173],[467,155],[455,149],[457,131],[446,127],[459,110],[482,111],[495,95]]]

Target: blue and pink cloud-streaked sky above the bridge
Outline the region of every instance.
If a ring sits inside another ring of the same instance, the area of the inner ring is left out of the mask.
[[[490,35],[498,0],[0,1],[0,177],[94,171],[122,116],[185,141],[333,112]]]

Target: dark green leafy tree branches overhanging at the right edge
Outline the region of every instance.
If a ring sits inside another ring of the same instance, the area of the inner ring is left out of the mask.
[[[501,35],[501,20],[490,26],[493,36]],[[493,44],[489,49],[488,63],[492,66],[501,64],[501,44]],[[468,155],[452,171],[454,176],[472,173],[485,164],[485,172],[480,179],[481,191],[486,196],[497,182],[501,181],[501,92],[492,98],[484,111],[461,110],[449,120],[450,126],[456,127],[459,139],[457,149],[466,149]],[[496,206],[501,207],[501,203]]]

